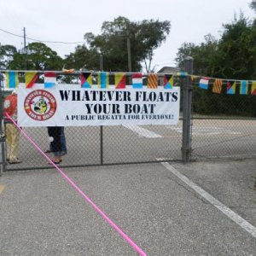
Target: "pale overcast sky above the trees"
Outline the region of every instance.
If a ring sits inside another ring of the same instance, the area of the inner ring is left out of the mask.
[[[177,49],[184,43],[199,44],[211,33],[219,38],[222,24],[234,20],[240,11],[253,19],[251,0],[0,0],[0,29],[42,41],[83,42],[85,32],[99,34],[103,21],[119,15],[131,21],[158,19],[171,21],[171,32],[154,51],[156,71],[175,66]],[[21,49],[23,38],[0,31],[0,43]],[[32,43],[27,39],[26,44]],[[76,44],[47,44],[61,57],[73,52]],[[132,53],[131,53],[132,57]]]

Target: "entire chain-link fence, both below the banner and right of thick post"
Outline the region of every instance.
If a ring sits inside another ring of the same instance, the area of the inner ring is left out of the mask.
[[[189,68],[186,71],[191,73]],[[65,127],[67,154],[61,167],[256,157],[256,96],[214,94],[211,86],[202,90],[198,82],[191,84],[188,78],[176,78],[175,85],[182,89],[177,125]],[[2,103],[4,96],[2,90]],[[43,151],[49,150],[46,127],[23,131]],[[1,139],[5,171],[52,168],[23,136],[19,147],[22,162],[7,164],[4,137]]]

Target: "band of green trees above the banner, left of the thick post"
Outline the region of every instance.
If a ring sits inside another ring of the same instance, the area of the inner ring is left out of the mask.
[[[144,61],[147,71],[152,71],[154,49],[160,47],[170,32],[170,21],[143,20],[132,22],[119,16],[102,24],[102,33],[85,33],[87,44],[78,45],[73,53],[62,60],[57,53],[42,43],[28,44],[19,53],[12,45],[0,46],[0,69],[13,70],[99,70],[100,55],[106,71],[127,71],[128,49],[131,49],[132,71],[141,71]],[[131,48],[128,47],[130,41]]]

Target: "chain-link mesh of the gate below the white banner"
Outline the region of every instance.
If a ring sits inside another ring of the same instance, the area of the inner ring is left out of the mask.
[[[183,86],[183,84],[186,85],[186,79],[177,78],[176,80],[176,85],[182,88],[189,88],[189,80],[187,83],[187,86]],[[3,99],[3,83],[1,87],[1,98]],[[186,92],[183,94],[187,95]],[[183,113],[186,113],[186,111],[189,111],[187,105]],[[3,108],[1,114],[3,115]],[[187,122],[186,127],[190,129]],[[183,143],[186,129],[184,130],[182,118],[175,126],[65,127],[67,154],[63,157],[61,167],[146,163],[161,160],[173,161],[182,160],[183,157],[185,160],[189,160],[189,146]],[[44,151],[49,149],[49,136],[46,127],[25,127],[23,131],[37,143],[39,148]],[[187,134],[189,134],[189,131],[187,131]],[[2,145],[4,139],[3,137]],[[187,142],[189,141],[190,139],[187,140]],[[6,164],[5,154],[3,154],[3,169],[14,171],[52,167],[36,148],[27,141],[26,137],[22,136],[20,137],[19,159],[22,161],[20,164]]]

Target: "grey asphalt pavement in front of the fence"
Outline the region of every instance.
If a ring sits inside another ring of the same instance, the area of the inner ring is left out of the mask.
[[[0,177],[0,255],[256,255],[256,160],[63,168]]]

